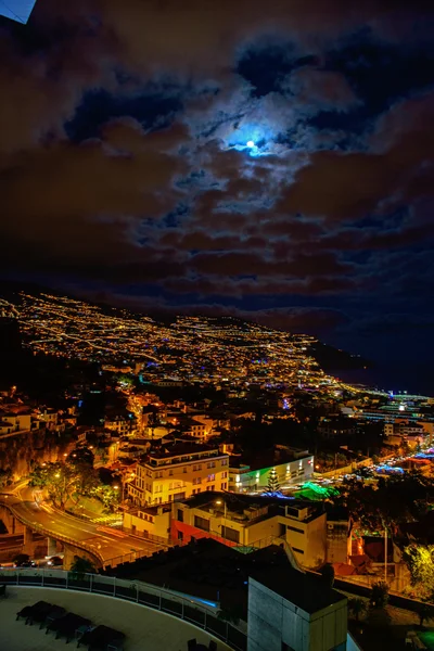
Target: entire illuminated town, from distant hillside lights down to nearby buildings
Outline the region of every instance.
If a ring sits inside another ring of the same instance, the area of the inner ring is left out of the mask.
[[[82,566],[122,585],[170,550],[217,545],[230,567],[281,547],[294,572],[333,572],[349,592],[430,600],[413,577],[431,549],[433,398],[342,382],[315,337],[229,317],[159,323],[48,293],[0,311],[11,582]]]

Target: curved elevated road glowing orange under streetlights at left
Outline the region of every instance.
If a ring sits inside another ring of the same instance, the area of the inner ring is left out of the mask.
[[[104,564],[110,564],[113,559],[116,559],[114,564],[118,564],[123,560],[150,556],[162,548],[149,540],[53,509],[48,503],[38,501],[36,492],[27,487],[16,487],[10,493],[3,492],[1,501],[12,510],[17,520],[35,532],[43,528],[43,533],[54,539],[67,538],[71,544],[93,551]]]

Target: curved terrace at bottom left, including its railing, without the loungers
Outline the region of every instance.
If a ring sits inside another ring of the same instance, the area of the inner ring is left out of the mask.
[[[51,577],[41,572],[23,571],[4,573],[1,576],[1,583],[7,584],[8,598],[1,603],[0,649],[59,651],[62,648],[60,646],[64,642],[56,639],[52,633],[46,634],[42,624],[40,628],[35,624],[26,625],[24,620],[16,621],[20,611],[40,601],[55,604],[59,610],[65,609],[78,615],[78,618],[86,617],[92,626],[108,626],[122,631],[125,634],[122,647],[124,651],[187,651],[188,642],[192,639],[195,639],[202,649],[208,649],[210,642],[216,644],[214,648],[218,651],[237,649],[205,630],[207,609],[175,593],[153,589],[145,596],[144,585],[141,584],[143,591],[139,590],[138,585],[133,586],[136,597],[132,600],[132,592],[129,595],[130,582],[94,576],[92,588],[90,575],[80,582],[69,580],[68,585],[67,573],[56,571],[50,574]],[[95,591],[85,591],[90,589]],[[81,593],[78,595],[77,590]],[[144,602],[150,605],[145,605]],[[181,616],[183,618],[180,618]],[[197,617],[201,624],[192,624]]]

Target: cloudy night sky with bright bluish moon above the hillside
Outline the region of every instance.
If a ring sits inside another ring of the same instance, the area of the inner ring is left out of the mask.
[[[0,88],[3,278],[431,375],[433,2],[38,0]]]

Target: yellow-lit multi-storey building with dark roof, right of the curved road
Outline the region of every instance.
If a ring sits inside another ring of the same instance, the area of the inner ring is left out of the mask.
[[[128,494],[137,506],[186,499],[204,490],[227,490],[229,457],[218,446],[176,443],[149,452],[137,464]]]

